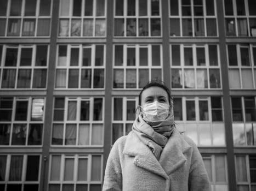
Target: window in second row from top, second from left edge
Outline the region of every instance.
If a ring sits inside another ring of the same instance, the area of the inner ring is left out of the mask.
[[[104,88],[104,45],[59,45],[55,88]]]

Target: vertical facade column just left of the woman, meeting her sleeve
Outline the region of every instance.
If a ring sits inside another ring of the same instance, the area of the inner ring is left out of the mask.
[[[111,110],[112,110],[112,61],[113,61],[113,0],[107,2],[107,39],[106,39],[106,80],[105,80],[105,117],[104,117],[104,156],[103,177],[107,157],[111,148]]]

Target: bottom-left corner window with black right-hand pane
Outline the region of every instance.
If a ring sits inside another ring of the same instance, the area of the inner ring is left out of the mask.
[[[1,190],[39,189],[41,157],[35,154],[0,155]]]

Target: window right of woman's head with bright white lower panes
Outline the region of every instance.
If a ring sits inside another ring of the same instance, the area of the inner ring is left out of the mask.
[[[198,146],[225,146],[221,97],[174,97],[174,119]]]

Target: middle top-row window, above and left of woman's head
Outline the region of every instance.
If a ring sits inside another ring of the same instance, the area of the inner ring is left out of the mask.
[[[116,37],[161,36],[161,1],[115,0]]]

